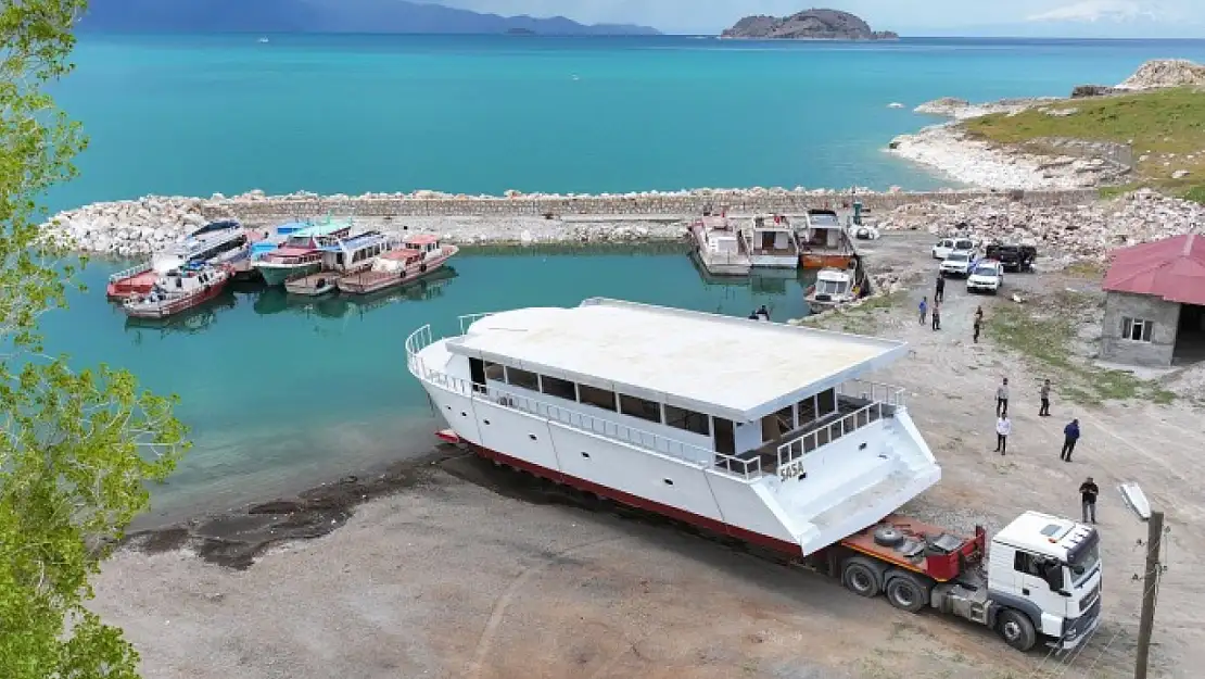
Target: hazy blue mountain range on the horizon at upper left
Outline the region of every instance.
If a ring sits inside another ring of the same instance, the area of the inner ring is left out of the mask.
[[[406,0],[92,0],[93,33],[372,33],[659,35],[648,27],[565,17],[502,17]]]

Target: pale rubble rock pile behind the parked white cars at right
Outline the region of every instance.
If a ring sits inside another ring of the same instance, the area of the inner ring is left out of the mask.
[[[968,233],[983,240],[1036,245],[1038,263],[1059,269],[1075,261],[1105,262],[1118,247],[1205,233],[1205,206],[1142,189],[1115,200],[1075,206],[1041,206],[984,198],[941,205],[899,207],[880,229]]]

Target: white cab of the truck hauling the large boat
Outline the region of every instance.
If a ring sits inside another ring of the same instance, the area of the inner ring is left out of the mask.
[[[1013,648],[1040,639],[1078,646],[1100,622],[1100,535],[1092,526],[1027,511],[992,538],[992,626]]]

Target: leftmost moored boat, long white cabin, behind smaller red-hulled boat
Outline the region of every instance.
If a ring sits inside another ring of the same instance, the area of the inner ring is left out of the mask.
[[[151,292],[164,274],[187,264],[236,264],[251,256],[249,244],[247,230],[237,221],[211,222],[154,253],[148,262],[108,276],[105,293],[110,299],[128,299]]]

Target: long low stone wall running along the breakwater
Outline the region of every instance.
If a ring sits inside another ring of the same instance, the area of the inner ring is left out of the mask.
[[[581,197],[581,198],[402,198],[402,197],[266,197],[227,199],[202,207],[207,218],[236,217],[253,222],[333,213],[360,217],[427,216],[539,216],[539,215],[664,215],[696,216],[705,207],[728,206],[729,212],[800,213],[812,207],[839,209],[860,200],[870,210],[884,212],[912,203],[957,204],[1009,195],[1030,205],[1082,205],[1098,198],[1097,189],[1027,192],[933,192],[815,194],[777,192],[765,194],[713,193],[692,195]]]

